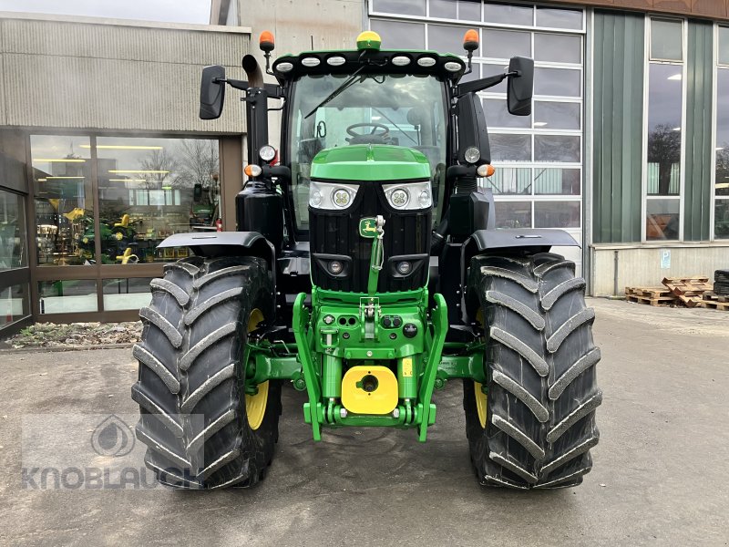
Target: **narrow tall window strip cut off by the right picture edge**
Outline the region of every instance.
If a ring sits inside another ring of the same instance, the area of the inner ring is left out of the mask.
[[[729,28],[719,27],[719,51],[727,54],[716,70],[716,165],[714,169],[714,237],[729,239]]]

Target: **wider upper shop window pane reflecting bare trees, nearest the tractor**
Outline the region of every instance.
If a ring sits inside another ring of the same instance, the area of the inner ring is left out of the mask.
[[[169,262],[169,235],[216,230],[221,218],[217,140],[98,137],[102,263]]]

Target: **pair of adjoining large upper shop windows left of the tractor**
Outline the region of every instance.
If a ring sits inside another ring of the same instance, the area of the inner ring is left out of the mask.
[[[217,140],[33,135],[31,157],[39,265],[169,262],[221,218]]]

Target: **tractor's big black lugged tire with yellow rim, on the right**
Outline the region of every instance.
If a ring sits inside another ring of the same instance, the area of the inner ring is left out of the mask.
[[[482,484],[562,488],[590,471],[602,393],[584,287],[557,254],[473,259],[469,294],[484,325],[487,389],[464,380],[464,409]]]

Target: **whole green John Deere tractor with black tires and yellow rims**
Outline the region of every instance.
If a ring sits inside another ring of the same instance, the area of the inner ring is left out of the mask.
[[[250,487],[272,463],[282,384],[305,391],[314,440],[328,428],[436,423],[434,391],[463,382],[470,457],[485,486],[579,484],[598,442],[594,312],[557,230],[495,229],[493,173],[476,92],[508,80],[529,115],[533,61],[463,81],[466,60],[383,50],[374,32],[346,51],[285,55],[264,83],[205,67],[200,118],[243,92],[249,180],[237,232],[175,234],[142,308],[137,437],[157,479],[188,489]],[[281,107],[270,107],[270,99]],[[268,112],[282,110],[281,149]]]

